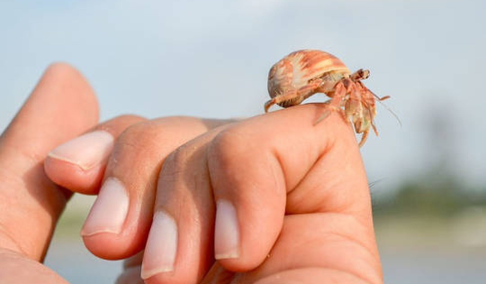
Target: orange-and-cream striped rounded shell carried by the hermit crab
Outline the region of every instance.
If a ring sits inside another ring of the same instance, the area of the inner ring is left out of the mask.
[[[307,88],[309,82],[326,74],[349,76],[350,71],[337,57],[320,50],[298,50],[275,63],[268,74],[268,94],[270,97],[299,92]],[[336,81],[339,78],[334,78]],[[297,105],[312,94],[298,97],[293,101],[278,103],[281,107]]]

